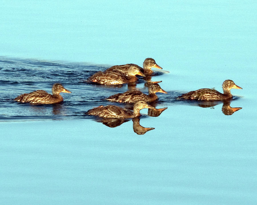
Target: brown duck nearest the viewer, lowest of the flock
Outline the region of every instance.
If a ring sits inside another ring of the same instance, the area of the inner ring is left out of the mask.
[[[153,109],[154,107],[144,101],[138,101],[134,103],[133,112],[117,105],[100,105],[88,110],[86,114],[99,116],[101,118],[134,118],[140,116],[140,110],[143,108]]]

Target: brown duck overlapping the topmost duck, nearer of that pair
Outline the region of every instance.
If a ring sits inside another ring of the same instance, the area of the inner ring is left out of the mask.
[[[138,67],[131,65],[128,68],[127,75],[120,71],[100,71],[89,77],[89,82],[94,82],[102,85],[119,85],[130,82],[136,82],[135,75],[145,76]]]

